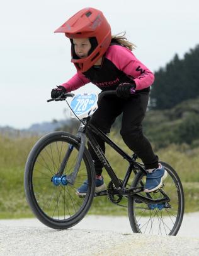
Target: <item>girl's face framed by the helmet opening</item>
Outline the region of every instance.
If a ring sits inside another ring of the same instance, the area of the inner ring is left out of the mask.
[[[74,50],[79,58],[88,57],[88,52],[91,49],[91,43],[88,38],[73,39]]]

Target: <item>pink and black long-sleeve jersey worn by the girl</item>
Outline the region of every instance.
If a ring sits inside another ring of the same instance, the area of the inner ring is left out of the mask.
[[[143,90],[152,85],[154,75],[135,58],[132,51],[113,44],[108,47],[101,66],[92,66],[84,73],[76,73],[62,86],[67,92],[71,92],[91,82],[101,90],[115,90],[120,83],[132,80],[135,82],[136,90]]]

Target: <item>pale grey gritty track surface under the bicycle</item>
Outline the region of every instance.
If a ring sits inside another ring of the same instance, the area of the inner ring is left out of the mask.
[[[0,220],[0,255],[199,255],[199,212],[177,236],[132,233],[128,217],[86,216],[57,231],[37,219]]]

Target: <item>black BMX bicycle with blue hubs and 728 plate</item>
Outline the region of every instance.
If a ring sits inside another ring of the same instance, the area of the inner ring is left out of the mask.
[[[115,94],[101,92],[101,97]],[[71,106],[67,97],[72,97]],[[168,171],[162,187],[152,193],[144,193],[146,171],[137,155],[125,153],[103,131],[89,123],[97,109],[96,94],[64,94],[49,101],[66,101],[76,118],[81,121],[77,135],[54,131],[43,136],[31,149],[25,166],[25,194],[31,210],[46,226],[67,229],[76,225],[88,212],[94,197],[108,196],[118,205],[128,199],[128,217],[135,233],[176,235],[183,220],[185,207],[183,186],[178,174],[166,162],[161,162]],[[128,161],[123,180],[117,177],[94,136],[100,136],[113,150]],[[107,189],[95,193],[93,160],[86,148],[86,138],[110,176]],[[130,175],[134,180],[128,185]],[[88,180],[88,192],[77,196],[76,190]]]

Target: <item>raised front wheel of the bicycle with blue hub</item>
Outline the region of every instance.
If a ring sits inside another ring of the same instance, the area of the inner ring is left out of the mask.
[[[31,210],[43,224],[55,229],[71,228],[81,221],[91,206],[94,195],[94,166],[85,148],[74,185],[55,182],[65,154],[63,175],[74,170],[79,140],[69,133],[57,131],[42,137],[31,150],[25,167],[25,194]],[[88,192],[80,198],[76,190],[88,180]]]

